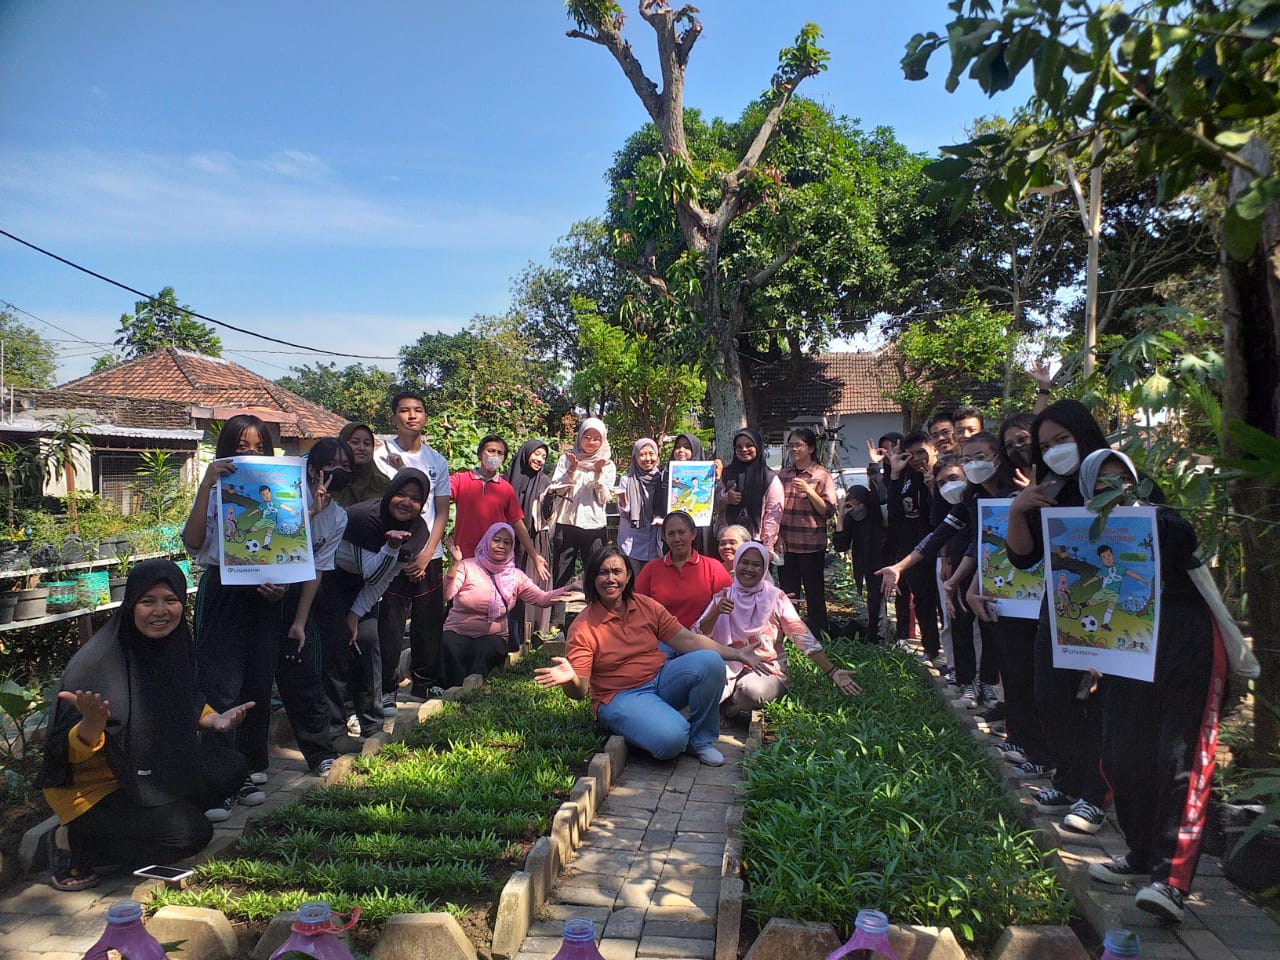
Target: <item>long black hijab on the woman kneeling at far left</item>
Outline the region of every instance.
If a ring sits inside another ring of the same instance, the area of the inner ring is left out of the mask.
[[[205,699],[196,675],[196,646],[183,618],[160,639],[142,636],[133,613],[142,595],[165,582],[187,596],[187,575],[166,559],[148,559],[129,571],[124,602],[93,634],[63,672],[59,690],[92,690],[109,700],[106,760],[120,788],[142,806],[159,806],[202,790],[195,758],[196,723]],[[58,700],[36,785],[72,785],[67,737],[81,719],[74,704]]]

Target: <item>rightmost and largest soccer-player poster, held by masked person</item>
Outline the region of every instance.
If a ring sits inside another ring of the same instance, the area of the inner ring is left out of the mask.
[[[1041,511],[1053,666],[1151,681],[1160,636],[1155,507]]]

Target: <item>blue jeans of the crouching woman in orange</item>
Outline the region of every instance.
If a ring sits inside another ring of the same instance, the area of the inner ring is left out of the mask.
[[[667,660],[648,684],[614,694],[595,716],[630,746],[667,760],[685,748],[716,742],[723,690],[723,658],[714,650],[692,650]],[[680,712],[684,707],[689,708],[689,719]]]

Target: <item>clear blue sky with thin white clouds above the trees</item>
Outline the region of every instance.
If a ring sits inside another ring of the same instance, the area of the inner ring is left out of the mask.
[[[653,64],[635,6],[627,35]],[[686,105],[708,115],[736,116],[806,20],[832,58],[801,93],[913,150],[1020,100],[946,93],[941,59],[902,79],[904,44],[941,29],[945,0],[699,6]],[[502,312],[525,264],[603,209],[646,116],[570,26],[559,0],[0,0],[0,229],[238,326],[394,356]],[[0,237],[0,301],[58,342],[59,380],[134,300]],[[219,335],[273,378],[325,360]]]

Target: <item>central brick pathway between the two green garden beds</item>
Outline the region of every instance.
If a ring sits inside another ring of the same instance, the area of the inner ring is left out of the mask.
[[[570,916],[595,922],[605,960],[713,957],[724,818],[737,799],[744,740],[741,731],[721,737],[723,767],[630,753],[517,960],[559,950]]]

